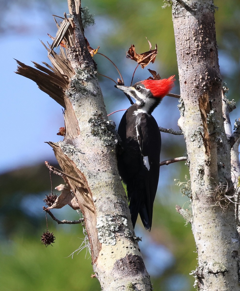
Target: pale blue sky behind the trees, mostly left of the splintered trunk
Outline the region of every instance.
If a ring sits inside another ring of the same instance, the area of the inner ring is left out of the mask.
[[[0,173],[18,168],[19,166],[54,159],[52,149],[44,142],[56,142],[61,139],[56,133],[59,127],[64,126],[62,107],[47,94],[39,90],[33,81],[14,73],[17,70],[17,63],[14,58],[27,65],[33,65],[31,61],[36,61],[37,63],[41,63],[42,61],[48,62],[46,50],[41,45],[39,39],[45,43],[51,41],[47,33],[50,33],[52,36],[56,33],[56,26],[51,18],[51,14],[62,16],[63,12],[67,11],[67,6],[65,3],[58,3],[56,5],[54,2],[48,4],[46,2],[45,4],[46,7],[39,7],[38,3],[33,2],[30,6],[24,8],[20,8],[18,5],[12,5],[4,16],[6,31],[0,34],[0,61],[2,69],[0,98],[2,136],[0,151],[2,155],[0,157]],[[10,18],[10,15],[16,15],[16,23],[21,23],[21,25],[15,26],[12,30],[7,29],[7,20]],[[92,37],[95,42],[96,38],[99,37],[99,45],[103,48],[104,44],[101,43],[100,35],[111,33],[111,29],[114,29],[114,23],[108,23],[106,19],[99,18],[98,16],[95,16],[95,20],[96,25],[93,28],[90,27],[88,36],[89,39]],[[94,34],[93,30],[95,31]],[[104,51],[101,52],[104,53]],[[224,72],[225,70],[230,70],[229,72],[225,72],[226,74],[234,72],[234,62],[224,53],[221,53],[221,50],[219,58],[220,68]],[[98,61],[101,60],[98,59]],[[125,62],[128,62],[128,64],[129,62],[131,63],[123,55],[122,63],[125,65]],[[108,66],[107,63],[106,65]],[[132,65],[132,69],[129,71],[132,72],[135,64],[131,63],[130,65]],[[100,67],[100,72],[102,69],[104,68]],[[136,75],[139,78],[145,78],[146,72],[138,70]],[[126,76],[124,79],[127,79]],[[107,83],[107,86],[103,87],[104,95],[109,95],[108,86],[113,85],[110,81],[110,83]],[[230,86],[231,84],[227,85]],[[120,94],[120,92],[116,92],[117,96],[120,96]],[[106,101],[109,102],[109,105],[107,105],[108,113],[129,106],[128,101],[123,98],[118,102],[110,100],[109,97],[107,98]],[[160,120],[159,116],[161,116],[161,126],[178,129],[177,119],[179,113],[176,107],[178,102],[177,100],[171,100],[171,104],[169,104],[169,99],[167,98],[169,97],[165,97],[162,105],[155,110],[156,112],[154,111],[154,114],[157,117],[158,123]],[[108,104],[108,102],[106,103]],[[171,112],[171,117],[169,117],[169,112]],[[118,123],[122,114],[122,112],[116,113],[111,116],[111,119]],[[173,118],[173,116],[176,117]],[[238,116],[239,109],[232,113],[232,120]],[[170,119],[171,124],[169,124]],[[184,152],[181,153],[181,155],[183,154]]]

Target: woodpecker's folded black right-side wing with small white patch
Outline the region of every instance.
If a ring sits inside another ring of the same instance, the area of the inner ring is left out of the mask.
[[[140,159],[142,165],[142,177],[145,184],[145,192],[139,214],[146,229],[151,229],[153,203],[156,196],[159,178],[159,163],[161,149],[161,135],[153,116],[142,113],[136,125],[137,140],[140,147]]]

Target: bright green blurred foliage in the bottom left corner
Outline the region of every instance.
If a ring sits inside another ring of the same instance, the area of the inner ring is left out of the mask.
[[[13,235],[0,248],[0,290],[100,290],[98,279],[91,278],[87,248],[71,256],[83,238],[81,233],[58,231],[53,247],[46,248],[39,235]]]

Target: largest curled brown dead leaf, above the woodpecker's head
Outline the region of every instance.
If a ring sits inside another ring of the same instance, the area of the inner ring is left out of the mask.
[[[133,61],[136,61],[139,65],[141,65],[142,69],[144,69],[149,63],[154,63],[156,55],[158,53],[157,45],[155,46],[155,49],[151,49],[151,43],[149,40],[147,40],[149,43],[149,51],[144,52],[142,54],[137,54],[135,51],[135,46],[131,45],[129,48],[129,51],[126,53],[127,58],[130,58]]]

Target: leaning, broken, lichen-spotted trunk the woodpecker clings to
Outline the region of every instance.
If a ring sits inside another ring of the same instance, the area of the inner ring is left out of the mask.
[[[49,145],[79,203],[102,290],[151,290],[117,170],[116,132],[107,121],[84,39],[80,2],[68,0],[68,6],[70,15],[65,14],[53,45],[46,47],[52,67],[35,63],[37,70],[17,61],[17,73],[33,79],[64,107],[64,140]],[[56,54],[53,48],[61,41],[66,48]]]

